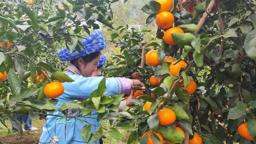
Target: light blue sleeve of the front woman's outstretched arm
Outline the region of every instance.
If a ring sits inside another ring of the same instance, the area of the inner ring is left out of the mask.
[[[94,76],[85,78],[84,76],[68,74],[74,82],[64,82],[64,93],[69,97],[86,98],[98,88],[98,84],[104,78],[103,76]],[[108,96],[122,94],[123,85],[119,78],[106,78],[106,92]],[[64,97],[66,95],[63,95]]]

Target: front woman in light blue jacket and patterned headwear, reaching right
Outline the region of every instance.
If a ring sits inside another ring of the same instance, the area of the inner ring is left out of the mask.
[[[74,49],[73,53],[69,53],[67,48],[57,51],[58,57],[62,61],[70,61],[68,70],[65,74],[70,76],[74,82],[64,82],[64,94],[57,97],[58,103],[55,105],[59,108],[63,103],[73,100],[82,101],[88,98],[90,94],[97,89],[98,84],[103,77],[90,77],[94,70],[97,69],[97,63],[100,60],[100,50],[106,47],[104,37],[100,30],[95,30],[89,36],[81,40],[86,50],[81,48],[81,54]],[[107,95],[113,96],[117,94],[127,94],[132,86],[144,86],[138,80],[130,80],[126,78],[107,78],[106,91]],[[68,115],[78,115],[79,110],[72,113],[68,111]],[[94,112],[95,113],[95,112]],[[64,115],[62,112],[55,111],[50,114]],[[43,133],[39,140],[39,144],[49,143],[52,135],[59,136],[59,144],[81,144],[86,143],[81,137],[81,129],[90,123],[91,132],[97,127],[95,118],[82,118],[81,121],[75,118],[65,118],[56,116],[47,116],[46,124],[43,126]],[[99,141],[93,144],[99,144]]]

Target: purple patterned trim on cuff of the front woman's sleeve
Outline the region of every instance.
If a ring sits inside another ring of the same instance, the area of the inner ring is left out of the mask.
[[[130,91],[130,83],[126,78],[115,78],[118,83],[118,93],[119,94],[128,94]]]

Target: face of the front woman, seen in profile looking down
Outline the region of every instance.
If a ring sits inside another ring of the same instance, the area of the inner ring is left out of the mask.
[[[78,58],[79,69],[84,77],[90,77],[92,73],[97,70],[97,63],[100,60],[100,55],[97,58],[93,59],[91,62],[85,64],[82,58]]]

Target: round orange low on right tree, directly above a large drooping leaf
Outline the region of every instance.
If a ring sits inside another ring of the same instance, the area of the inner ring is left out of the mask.
[[[176,115],[170,108],[164,108],[158,111],[159,124],[166,126],[174,123]]]

